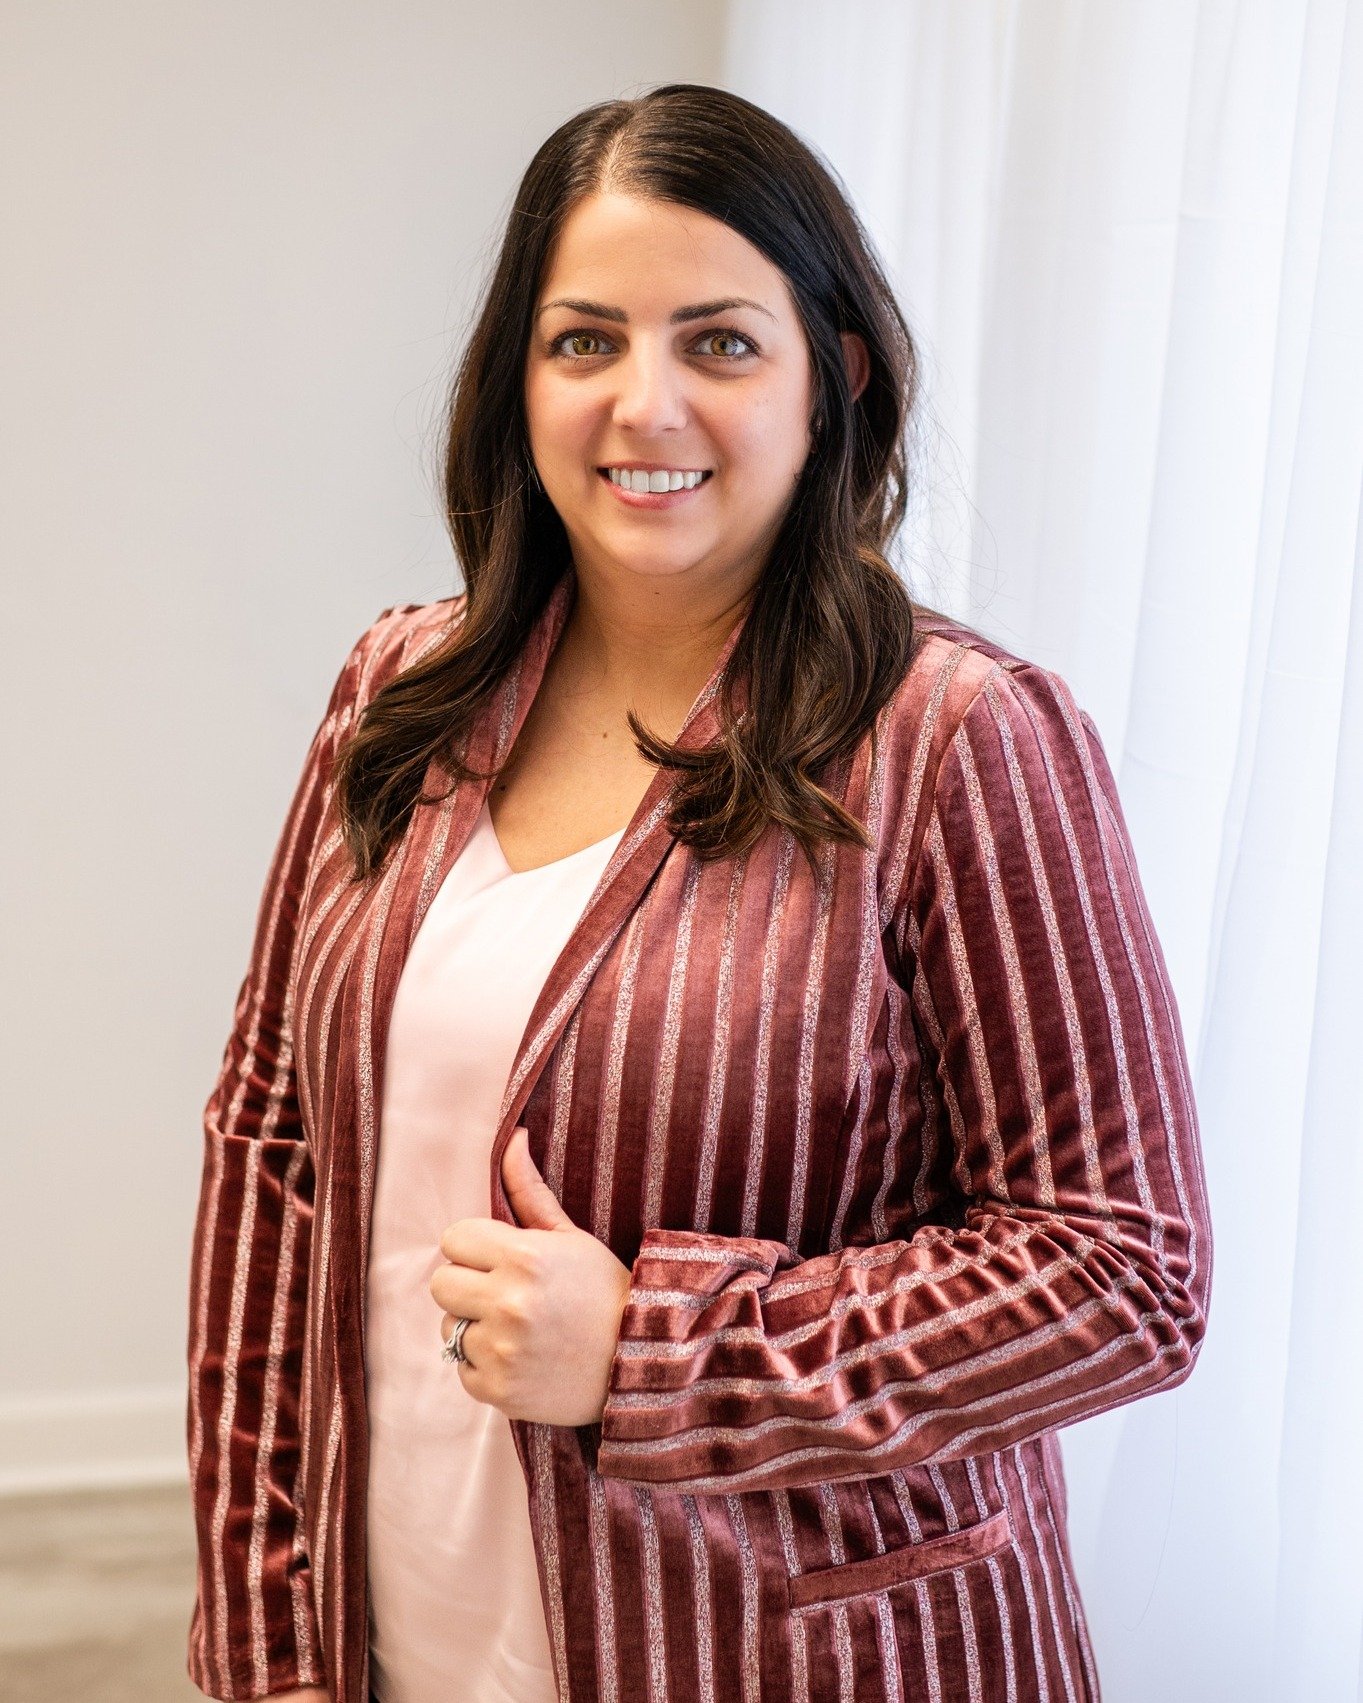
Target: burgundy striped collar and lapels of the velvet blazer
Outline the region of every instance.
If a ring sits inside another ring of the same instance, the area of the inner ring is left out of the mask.
[[[511,751],[567,622],[574,593],[576,574],[569,567],[550,593],[515,668],[470,731],[467,760],[474,768],[487,770],[494,766],[494,761],[501,763]],[[709,679],[687,712],[687,719],[676,737],[676,743],[683,749],[695,749],[719,732],[719,685],[745,620],[746,613],[734,622],[716,657]],[[738,714],[741,714],[746,707],[743,681],[738,683],[734,702]],[[423,795],[438,795],[451,782],[453,775],[445,763],[440,758],[433,758],[426,771]],[[516,1047],[491,1156],[492,1216],[504,1223],[515,1224],[516,1218],[501,1184],[503,1150],[511,1139],[511,1131],[516,1127],[521,1109],[530,1098],[555,1041],[581,1001],[593,972],[610,950],[612,942],[635,904],[639,904],[658,865],[673,843],[673,834],[666,823],[671,787],[671,773],[663,768],[656,770],[584,911],[555,959]],[[414,812],[412,840],[402,862],[397,891],[394,892],[383,926],[380,972],[375,983],[373,1034],[377,1056],[373,1061],[371,1092],[377,1095],[382,1093],[387,1030],[402,966],[440,884],[448,875],[474,831],[489,790],[491,780],[462,780],[443,804],[417,806]],[[375,1107],[377,1115],[378,1107]]]

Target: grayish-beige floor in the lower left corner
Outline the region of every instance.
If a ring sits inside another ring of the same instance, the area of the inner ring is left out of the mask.
[[[203,1703],[186,1487],[0,1497],[0,1700]]]

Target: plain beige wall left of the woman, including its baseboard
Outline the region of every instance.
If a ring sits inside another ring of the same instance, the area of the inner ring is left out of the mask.
[[[445,380],[571,112],[722,0],[5,9],[0,1487],[182,1470],[199,1115],[331,681],[455,588]]]

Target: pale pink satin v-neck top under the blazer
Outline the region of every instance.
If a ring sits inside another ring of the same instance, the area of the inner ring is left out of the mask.
[[[431,1276],[491,1216],[501,1100],[535,1000],[624,829],[513,870],[484,799],[402,967],[366,1272],[370,1683],[380,1703],[555,1703],[506,1415],[440,1357]]]

